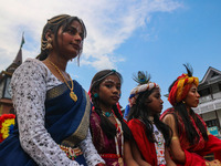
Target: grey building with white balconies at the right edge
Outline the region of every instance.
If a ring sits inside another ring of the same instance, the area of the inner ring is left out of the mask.
[[[212,135],[220,137],[221,133],[221,71],[209,68],[198,86],[199,105],[194,108],[207,123]]]

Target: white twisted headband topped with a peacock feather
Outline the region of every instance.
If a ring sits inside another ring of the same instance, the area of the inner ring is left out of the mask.
[[[159,89],[159,85],[154,83],[154,82],[150,82],[150,75],[144,72],[138,72],[138,75],[134,75],[133,77],[134,81],[136,81],[138,84],[138,86],[134,87],[131,91],[130,91],[130,95],[129,95],[129,106],[131,107],[134,104],[136,104],[136,100],[137,97],[139,96],[140,93],[143,92],[146,92],[146,91],[150,91],[155,87],[158,87]]]

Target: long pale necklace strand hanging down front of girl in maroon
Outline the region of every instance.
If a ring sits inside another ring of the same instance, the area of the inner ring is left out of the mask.
[[[123,160],[123,157],[124,157],[124,133],[123,133],[123,129],[122,129],[122,124],[119,122],[119,120],[114,115],[114,118],[116,121],[116,127],[117,127],[117,134],[116,136],[114,137],[115,139],[115,144],[116,144],[116,153],[117,153],[117,156],[118,156],[118,164],[119,166],[124,166],[124,160]],[[119,146],[118,146],[118,142],[117,142],[117,137],[122,137],[122,156],[119,154]]]

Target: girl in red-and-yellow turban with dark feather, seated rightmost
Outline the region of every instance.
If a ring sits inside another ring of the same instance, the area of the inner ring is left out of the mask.
[[[185,166],[221,166],[221,141],[207,132],[204,121],[193,112],[199,103],[199,80],[192,76],[192,68],[185,65],[182,74],[169,87],[168,101],[172,107],[160,118],[172,129],[170,154],[172,159]],[[215,160],[206,160],[213,153]]]

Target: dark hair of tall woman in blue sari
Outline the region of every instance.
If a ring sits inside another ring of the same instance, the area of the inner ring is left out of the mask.
[[[83,40],[86,38],[86,28],[84,25],[84,22],[77,18],[77,17],[71,17],[69,14],[60,14],[56,17],[53,17],[52,19],[48,20],[46,24],[43,28],[43,32],[42,32],[42,39],[41,39],[41,53],[36,56],[36,59],[39,59],[40,61],[43,61],[48,58],[50,50],[45,48],[45,43],[46,43],[46,38],[45,34],[46,32],[51,31],[54,37],[55,37],[55,41],[57,44],[57,32],[59,29],[61,27],[63,27],[63,32],[71,25],[71,23],[73,21],[78,21],[83,28]],[[82,48],[83,49],[83,48]],[[80,60],[80,55],[82,53],[82,49],[80,50],[78,56],[77,56],[77,62]]]

